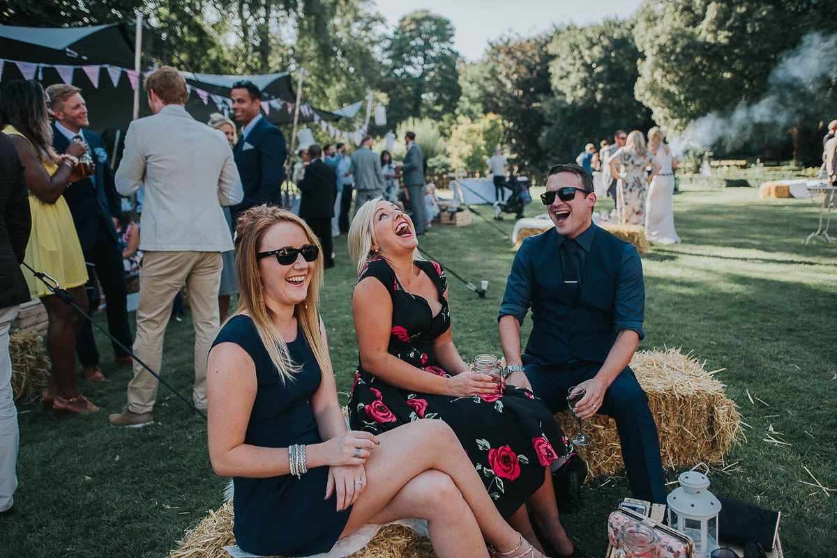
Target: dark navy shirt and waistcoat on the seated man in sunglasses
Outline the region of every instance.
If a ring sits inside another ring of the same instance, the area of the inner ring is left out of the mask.
[[[628,242],[591,227],[588,246],[579,241],[588,253],[578,301],[564,286],[560,252],[564,237],[555,229],[526,238],[511,266],[498,319],[511,315],[522,324],[531,306],[526,355],[539,365],[603,363],[620,331],[631,329],[644,337],[645,289],[639,254]]]

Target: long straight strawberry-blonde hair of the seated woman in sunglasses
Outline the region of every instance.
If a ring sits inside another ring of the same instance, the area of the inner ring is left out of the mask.
[[[311,273],[306,299],[296,305],[294,317],[302,327],[311,352],[320,365],[321,373],[325,373],[327,369],[327,359],[316,309],[322,286],[323,261],[320,241],[311,231],[311,227],[290,211],[271,205],[257,205],[239,216],[235,226],[235,271],[239,276],[240,306],[236,314],[247,312],[253,319],[256,331],[270,354],[270,360],[279,370],[284,383],[287,379],[293,379],[293,375],[300,371],[301,366],[290,358],[288,345],[274,326],[270,308],[264,304],[264,286],[259,274],[259,261],[256,259],[262,236],[276,223],[292,223],[299,226],[306,233],[308,243],[320,247],[320,253],[313,262],[314,271]]]

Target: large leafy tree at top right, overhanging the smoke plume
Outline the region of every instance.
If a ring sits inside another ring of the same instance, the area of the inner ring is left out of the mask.
[[[793,48],[812,26],[827,25],[814,15],[833,16],[834,8],[826,4],[647,0],[634,29],[643,55],[637,99],[661,126],[676,130],[711,111],[756,101],[767,89],[778,54]]]

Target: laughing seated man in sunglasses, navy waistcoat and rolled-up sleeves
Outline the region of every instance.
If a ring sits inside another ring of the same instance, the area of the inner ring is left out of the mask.
[[[583,167],[553,165],[541,200],[555,228],[526,238],[511,266],[498,316],[504,376],[553,412],[567,408],[569,388],[584,388],[578,417],[614,418],[634,497],[662,504],[657,428],[628,367],[644,337],[639,254],[593,225],[593,177]],[[529,307],[531,334],[521,354]]]

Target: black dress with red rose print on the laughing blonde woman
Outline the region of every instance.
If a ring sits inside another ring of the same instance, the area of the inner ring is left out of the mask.
[[[444,298],[447,281],[438,263],[415,261],[415,265],[439,292],[442,309],[435,316],[423,297],[403,290],[386,261],[371,261],[360,278],[375,277],[392,297],[388,352],[429,374],[447,377],[433,350],[434,339],[450,327]],[[470,397],[415,393],[358,366],[349,398],[352,429],[381,434],[419,418],[439,418],[449,424],[505,518],[541,487],[544,468],[552,460],[572,452],[547,406],[526,389],[509,385],[502,394]]]

